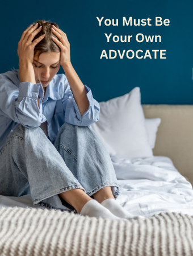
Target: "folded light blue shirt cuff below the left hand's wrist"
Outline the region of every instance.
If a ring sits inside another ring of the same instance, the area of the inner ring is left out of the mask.
[[[32,84],[32,82],[20,82],[18,97],[34,98],[37,100],[39,95],[43,98],[44,89],[40,82],[38,84]]]

